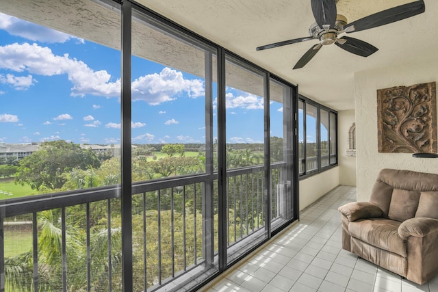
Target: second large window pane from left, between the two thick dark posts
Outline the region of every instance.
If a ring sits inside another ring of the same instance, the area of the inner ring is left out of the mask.
[[[216,51],[140,10],[132,21],[134,290],[190,287],[218,264]]]

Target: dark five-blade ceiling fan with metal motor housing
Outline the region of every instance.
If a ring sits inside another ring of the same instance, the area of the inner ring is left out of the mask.
[[[320,51],[322,46],[335,43],[337,47],[350,53],[368,57],[378,49],[368,42],[345,36],[347,33],[371,29],[388,23],[401,21],[417,14],[423,13],[424,1],[415,1],[404,5],[389,8],[370,16],[366,16],[357,21],[347,24],[345,16],[337,14],[337,0],[311,0],[311,7],[315,23],[309,28],[309,35],[305,38],[295,38],[293,40],[284,40],[274,42],[265,46],[257,47],[257,51],[272,49],[285,46],[286,44],[295,44],[297,42],[306,42],[307,40],[319,39],[319,44],[315,44],[309,49],[295,64],[294,69],[304,67]]]

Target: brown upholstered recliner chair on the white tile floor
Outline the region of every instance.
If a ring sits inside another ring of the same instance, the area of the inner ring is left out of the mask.
[[[423,284],[438,273],[438,174],[381,170],[370,202],[342,213],[342,248]]]

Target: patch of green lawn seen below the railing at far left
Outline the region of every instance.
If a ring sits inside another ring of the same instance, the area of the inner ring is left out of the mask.
[[[17,256],[32,250],[31,230],[9,230],[5,228],[5,257]]]

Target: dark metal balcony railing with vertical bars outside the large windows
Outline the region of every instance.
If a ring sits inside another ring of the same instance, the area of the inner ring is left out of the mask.
[[[284,172],[284,163],[271,166],[270,222],[285,215]],[[265,185],[262,166],[227,172],[230,259],[247,239],[263,237]],[[0,291],[120,291],[120,209],[118,185],[1,202]],[[134,291],[168,289],[217,270],[217,176],[133,184],[132,226]],[[16,233],[29,250],[5,254]]]

